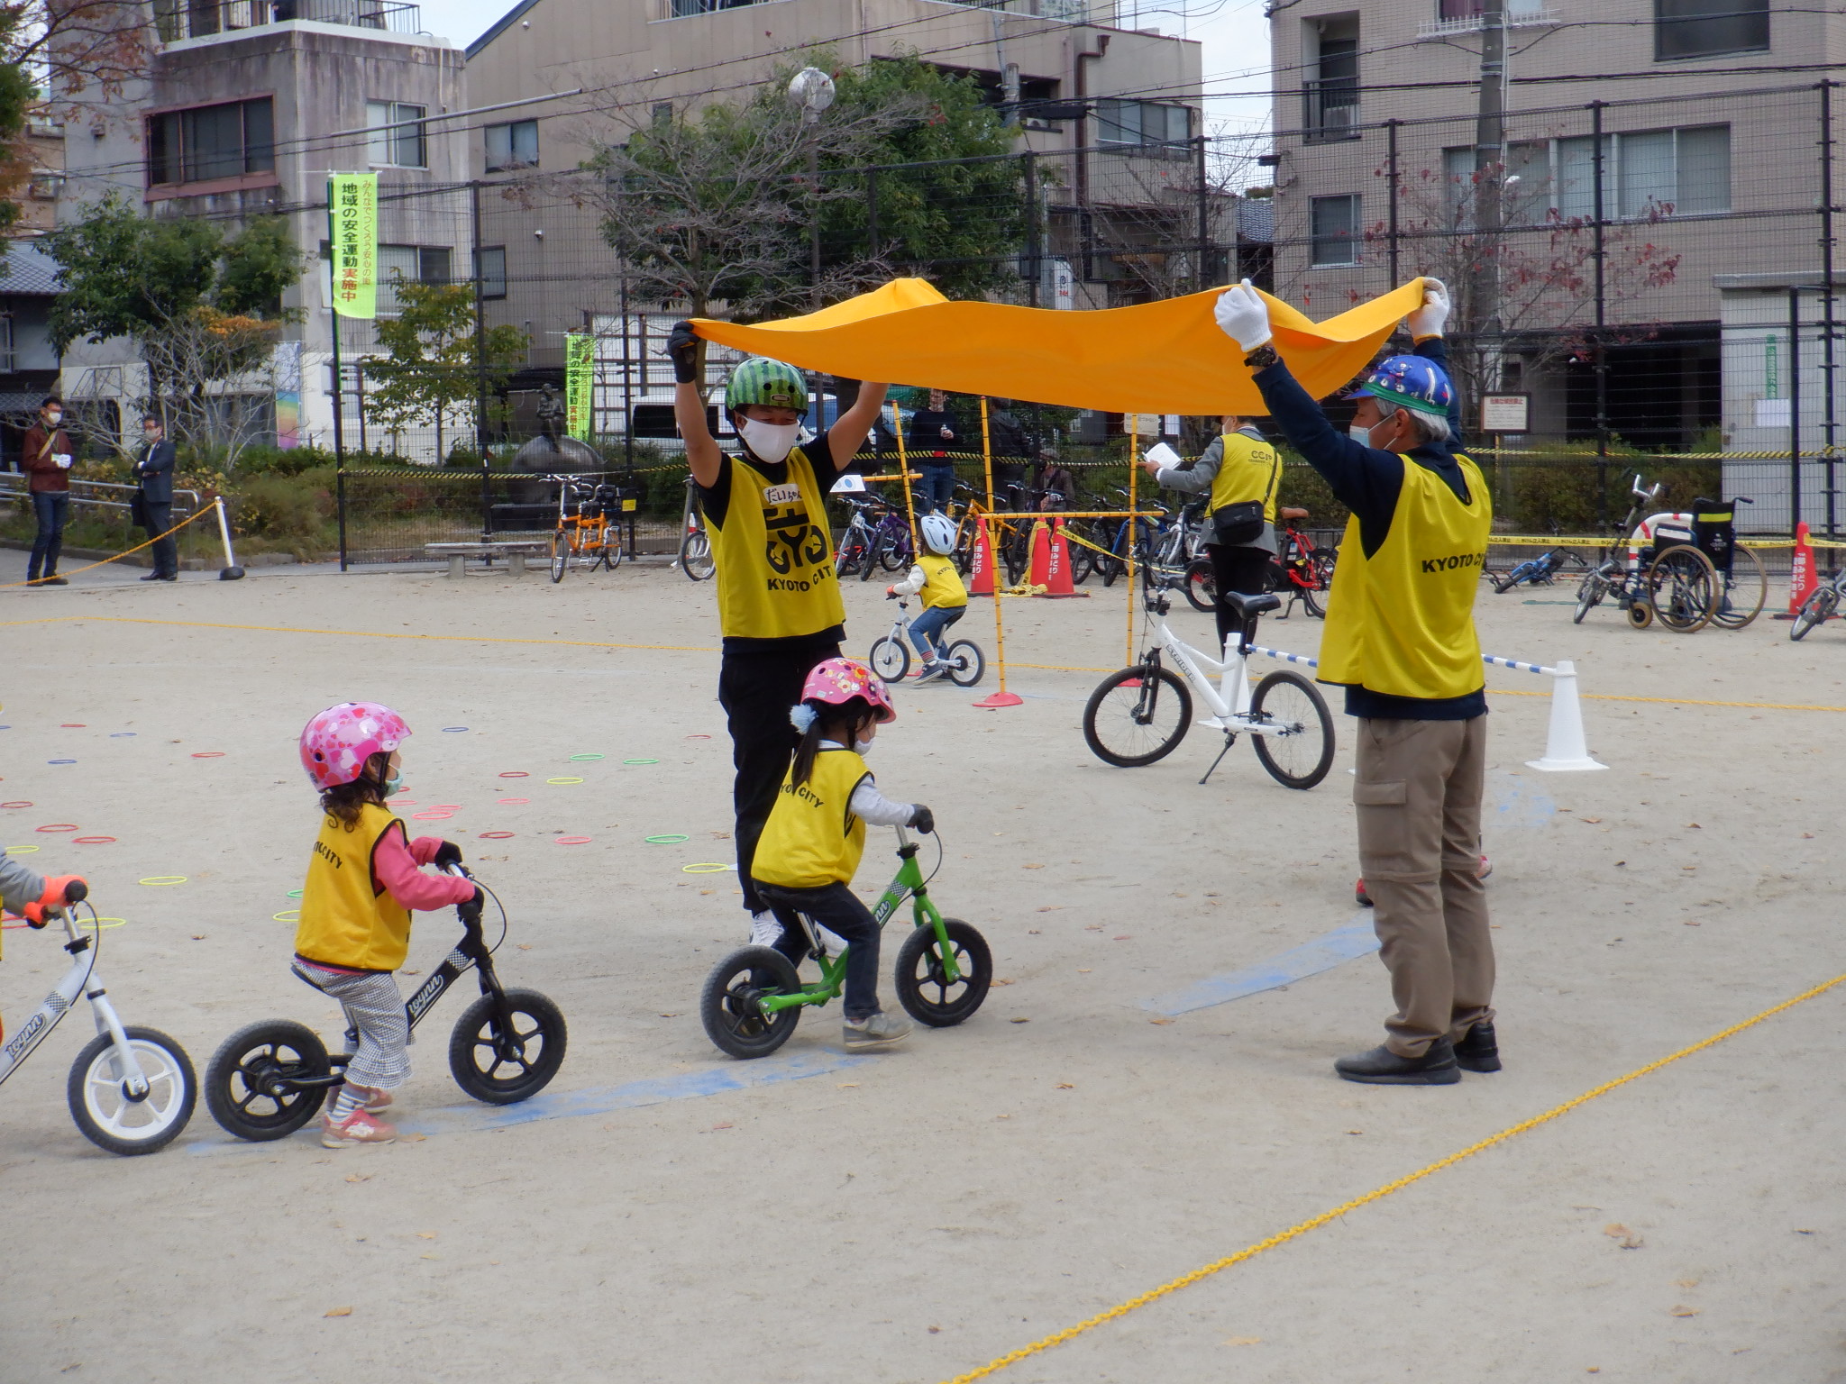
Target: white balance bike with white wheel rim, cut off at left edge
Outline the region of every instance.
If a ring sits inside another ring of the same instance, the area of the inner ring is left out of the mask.
[[[70,1067],[65,1096],[70,1116],[98,1148],[111,1153],[153,1153],[166,1148],[186,1120],[198,1100],[198,1078],[186,1050],[157,1028],[124,1028],[114,1006],[96,974],[102,954],[102,923],[90,908],[90,928],[76,921],[76,904],[89,889],[70,884],[65,889],[63,925],[65,950],[70,952],[70,971],[31,1011],[20,1030],[0,1048],[0,1081],[20,1068],[26,1057],[57,1028],[83,995],[96,1019],[92,1037]]]

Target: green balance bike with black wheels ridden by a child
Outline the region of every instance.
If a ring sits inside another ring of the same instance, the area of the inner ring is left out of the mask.
[[[912,902],[914,926],[897,949],[897,1002],[919,1024],[951,1028],[988,998],[993,954],[969,923],[936,912],[929,880],[917,865],[917,843],[903,827],[897,827],[897,877],[871,908],[882,928],[906,895]],[[940,856],[936,867],[941,869]],[[740,947],[705,978],[698,1000],[700,1022],[705,1024],[705,1037],[733,1057],[768,1057],[796,1032],[803,1006],[823,1006],[845,989],[847,949],[827,956],[812,919],[805,913],[796,913],[796,919],[807,956],[820,961],[820,980],[803,982],[796,963],[773,947]]]

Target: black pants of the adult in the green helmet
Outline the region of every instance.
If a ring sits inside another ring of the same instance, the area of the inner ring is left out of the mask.
[[[764,904],[749,864],[757,858],[757,838],[775,806],[775,793],[794,758],[796,727],[788,709],[801,699],[809,670],[821,659],[838,659],[838,644],[809,644],[799,651],[749,650],[724,651],[718,670],[718,703],[729,718],[731,764],[737,781],[731,801],[737,808],[737,878],[744,886],[744,908],[761,913]],[[786,921],[785,921],[786,926]],[[845,934],[840,934],[845,936]]]

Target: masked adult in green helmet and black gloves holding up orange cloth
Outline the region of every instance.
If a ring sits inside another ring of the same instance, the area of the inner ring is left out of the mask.
[[[674,417],[700,487],[716,563],[724,655],[718,701],[731,731],[737,779],[737,873],[751,941],[773,943],[792,919],[777,919],[749,873],[762,823],[796,749],[788,707],[801,699],[809,670],[840,655],[845,605],[833,567],[827,491],[851,469],[884,404],[882,384],[862,384],[833,428],[801,443],[807,380],[794,365],[761,356],[738,364],[724,406],[738,450],[725,452],[705,424],[698,378],[700,340],[692,323],[666,343],[677,389]]]

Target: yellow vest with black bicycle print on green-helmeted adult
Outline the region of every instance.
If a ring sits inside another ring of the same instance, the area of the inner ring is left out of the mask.
[[[781,485],[731,458],[731,502],[711,524],[718,624],[727,638],[796,638],[845,622],[833,570],[825,496],[807,454],[788,454]]]

